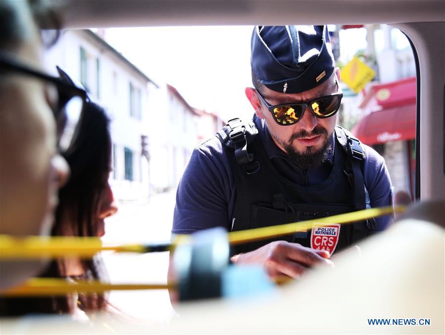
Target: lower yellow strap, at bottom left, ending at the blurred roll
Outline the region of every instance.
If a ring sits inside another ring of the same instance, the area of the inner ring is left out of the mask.
[[[68,282],[63,278],[31,278],[25,284],[4,290],[1,296],[45,296],[68,293],[104,293],[111,290],[167,290],[174,284],[107,284],[99,281]]]

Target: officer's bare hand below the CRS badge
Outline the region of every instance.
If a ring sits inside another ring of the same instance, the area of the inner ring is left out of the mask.
[[[329,252],[303,247],[297,243],[276,241],[265,246],[241,253],[231,258],[235,264],[261,264],[272,278],[283,275],[297,279],[310,267],[317,264],[334,266]]]

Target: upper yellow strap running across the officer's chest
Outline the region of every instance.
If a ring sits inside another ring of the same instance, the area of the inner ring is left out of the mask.
[[[373,209],[364,209],[346,214],[333,215],[318,218],[309,221],[300,221],[283,225],[253,228],[228,233],[230,244],[241,244],[250,241],[257,241],[282,235],[292,234],[297,231],[306,231],[312,229],[314,224],[328,225],[332,223],[352,223],[371,217],[402,212],[404,206],[395,208],[382,207]],[[176,245],[193,243],[190,235],[175,235],[173,243],[165,250],[173,250]],[[150,252],[155,250],[155,245],[102,245],[97,237],[40,237],[29,236],[16,238],[7,235],[0,235],[0,258],[42,258],[42,257],[61,257],[76,255],[78,257],[92,257],[100,251],[115,252]]]

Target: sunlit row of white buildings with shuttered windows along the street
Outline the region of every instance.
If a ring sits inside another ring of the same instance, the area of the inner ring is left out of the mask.
[[[196,113],[169,85],[158,86],[90,30],[64,31],[46,54],[105,108],[113,141],[116,199],[141,200],[177,186],[194,146]]]

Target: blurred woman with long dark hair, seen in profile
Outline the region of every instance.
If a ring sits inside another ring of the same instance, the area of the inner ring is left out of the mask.
[[[68,149],[65,159],[71,168],[69,182],[60,190],[60,203],[56,210],[53,236],[97,236],[105,233],[104,219],[116,213],[108,177],[111,170],[111,137],[109,120],[96,103],[88,102],[81,121],[76,142]],[[104,279],[105,273],[99,257],[79,259],[64,257],[54,261],[42,275],[44,277],[70,277],[73,279]],[[106,307],[103,294],[54,298],[48,312],[102,310]]]

